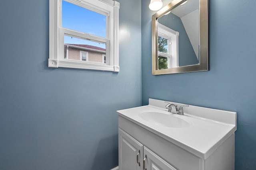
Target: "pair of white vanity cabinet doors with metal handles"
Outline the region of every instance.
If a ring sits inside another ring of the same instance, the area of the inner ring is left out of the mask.
[[[118,136],[119,170],[177,170],[122,129]]]

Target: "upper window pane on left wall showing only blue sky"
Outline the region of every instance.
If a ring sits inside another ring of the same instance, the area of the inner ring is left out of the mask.
[[[62,27],[106,38],[106,16],[64,0]]]

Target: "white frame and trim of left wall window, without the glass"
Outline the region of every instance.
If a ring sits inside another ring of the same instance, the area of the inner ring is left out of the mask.
[[[83,68],[119,72],[119,2],[114,0],[65,0],[106,16],[106,38],[62,27],[62,0],[49,0],[48,67]],[[106,43],[106,64],[64,59],[64,35]]]

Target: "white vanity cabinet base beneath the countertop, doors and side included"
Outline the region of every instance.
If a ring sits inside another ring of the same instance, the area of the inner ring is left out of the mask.
[[[146,155],[147,170],[234,170],[234,134],[204,158],[122,116],[118,124],[118,170],[143,170]]]

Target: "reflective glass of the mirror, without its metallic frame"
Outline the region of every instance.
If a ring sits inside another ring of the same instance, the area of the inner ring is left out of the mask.
[[[158,18],[158,70],[199,64],[199,0]]]

